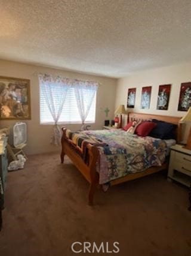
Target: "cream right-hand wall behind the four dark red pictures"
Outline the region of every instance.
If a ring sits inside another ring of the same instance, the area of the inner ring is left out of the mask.
[[[119,104],[127,106],[128,88],[137,88],[135,98],[135,108],[133,112],[150,113],[167,116],[184,116],[185,112],[178,111],[178,99],[180,85],[183,82],[191,81],[191,62],[170,67],[155,68],[131,74],[128,77],[118,79],[116,89],[115,107]],[[168,110],[156,110],[159,85],[171,84],[170,102]],[[141,88],[152,86],[150,109],[140,109]],[[125,119],[125,118],[124,118]],[[126,120],[124,121],[126,122]],[[187,131],[186,131],[187,132]]]

